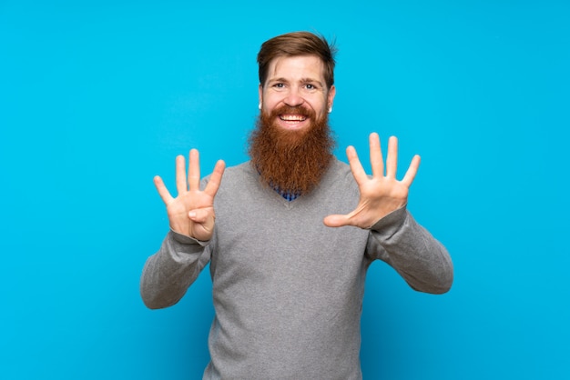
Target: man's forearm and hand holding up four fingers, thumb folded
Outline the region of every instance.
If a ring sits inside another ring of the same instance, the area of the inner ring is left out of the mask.
[[[148,258],[141,276],[140,294],[150,308],[176,304],[209,261],[207,246],[216,219],[214,197],[225,165],[223,161],[216,164],[204,190],[199,188],[199,155],[195,149],[190,151],[188,167],[187,178],[184,157],[178,156],[176,197],[170,195],[159,176],[155,177],[158,194],[167,206],[171,231],[158,253]]]

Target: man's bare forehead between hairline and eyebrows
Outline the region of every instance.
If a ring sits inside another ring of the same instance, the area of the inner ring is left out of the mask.
[[[270,62],[268,74],[269,79],[283,77],[323,81],[324,64],[316,55],[278,56]]]

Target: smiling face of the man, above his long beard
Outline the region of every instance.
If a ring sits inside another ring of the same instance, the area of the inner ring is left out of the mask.
[[[289,131],[310,129],[332,107],[334,85],[327,88],[324,65],[316,55],[280,56],[270,62],[260,84],[260,105],[274,125]]]

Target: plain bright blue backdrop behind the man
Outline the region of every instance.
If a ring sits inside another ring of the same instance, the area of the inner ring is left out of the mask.
[[[47,4],[50,3],[50,4]],[[372,4],[374,3],[374,4]],[[174,157],[247,159],[256,54],[295,30],[340,48],[337,154],[398,135],[409,208],[453,289],[377,263],[368,379],[559,379],[568,365],[570,5],[564,1],[0,1],[0,377],[199,378],[208,272],[150,311],[139,275],[168,230]]]

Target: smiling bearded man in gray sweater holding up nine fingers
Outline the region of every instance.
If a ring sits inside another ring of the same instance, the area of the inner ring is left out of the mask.
[[[399,181],[395,137],[385,175],[376,134],[372,176],[353,147],[350,166],[331,154],[334,53],[304,32],[265,42],[250,161],[227,170],[219,161],[200,184],[198,151],[188,178],[178,156],[176,197],[155,178],[170,232],[148,258],[141,295],[150,308],[174,305],[209,263],[215,318],[204,378],[360,379],[369,265],[385,261],[422,292],[452,285],[445,248],[406,210],[420,157]]]

